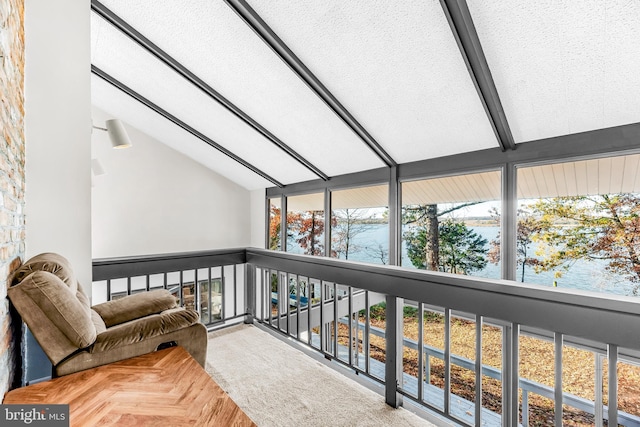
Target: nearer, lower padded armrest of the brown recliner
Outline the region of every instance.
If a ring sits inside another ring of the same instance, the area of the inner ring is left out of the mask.
[[[198,323],[198,321],[199,316],[195,310],[181,307],[165,310],[160,314],[152,314],[108,328],[97,336],[95,343],[90,348],[90,352],[99,353],[130,345],[148,338],[187,328]]]

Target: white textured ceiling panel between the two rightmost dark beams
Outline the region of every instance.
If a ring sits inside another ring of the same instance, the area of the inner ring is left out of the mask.
[[[249,3],[396,161],[498,146],[439,2]]]

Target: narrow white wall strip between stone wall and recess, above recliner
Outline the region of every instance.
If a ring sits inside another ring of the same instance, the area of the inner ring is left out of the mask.
[[[91,281],[90,0],[25,2],[26,257]]]

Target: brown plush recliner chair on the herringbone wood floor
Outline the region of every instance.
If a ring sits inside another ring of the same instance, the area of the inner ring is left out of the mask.
[[[204,366],[207,330],[169,291],[130,295],[90,306],[69,262],[37,255],[20,268],[7,294],[53,364],[54,376],[180,345]]]

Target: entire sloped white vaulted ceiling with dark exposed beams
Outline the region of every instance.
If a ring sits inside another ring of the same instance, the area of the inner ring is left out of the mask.
[[[92,102],[247,189],[640,122],[633,0],[92,1]]]

